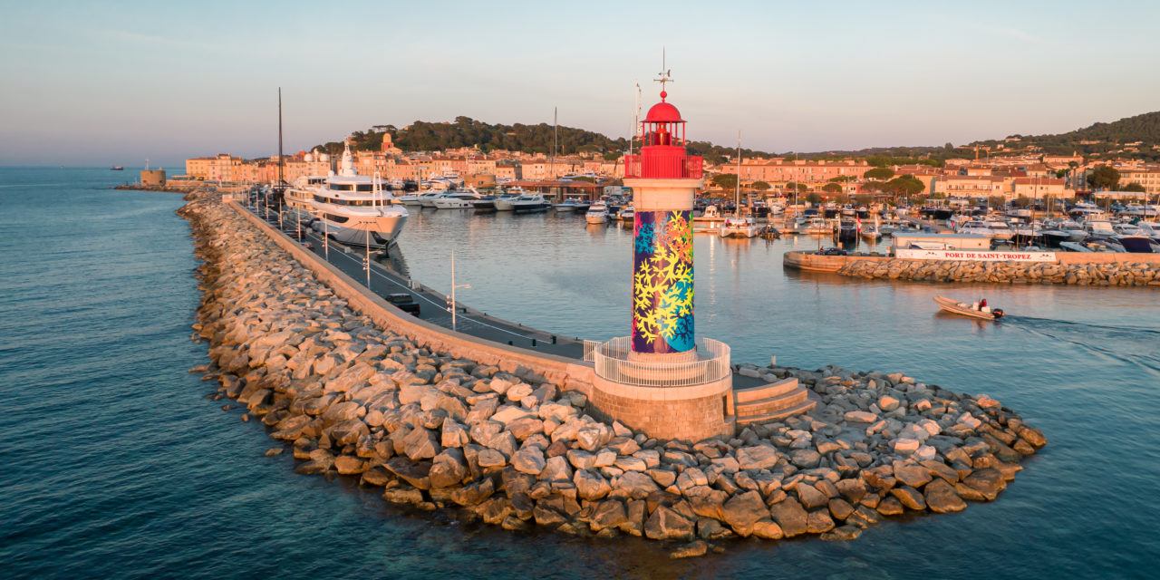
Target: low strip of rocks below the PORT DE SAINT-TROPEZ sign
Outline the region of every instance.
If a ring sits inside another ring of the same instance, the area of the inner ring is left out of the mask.
[[[1042,263],[945,260],[851,260],[838,274],[868,280],[1160,287],[1160,263]]]

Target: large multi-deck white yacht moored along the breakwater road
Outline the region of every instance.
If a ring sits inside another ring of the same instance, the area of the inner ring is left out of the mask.
[[[389,247],[409,217],[407,209],[384,190],[386,182],[358,175],[350,147],[342,153],[339,173],[313,193],[318,220],[314,231],[353,246]]]

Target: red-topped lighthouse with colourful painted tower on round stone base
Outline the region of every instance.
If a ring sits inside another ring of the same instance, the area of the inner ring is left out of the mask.
[[[686,151],[686,122],[660,102],[640,123],[639,154],[624,158],[636,210],[628,336],[589,346],[590,406],[652,437],[696,442],[734,432],[730,348],[695,334],[693,201],[702,160]]]

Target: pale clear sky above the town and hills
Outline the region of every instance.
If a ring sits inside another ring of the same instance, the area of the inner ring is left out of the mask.
[[[1160,2],[0,3],[0,165],[174,166],[375,124],[611,136],[661,48],[689,136],[819,151],[1061,132],[1160,110]]]

